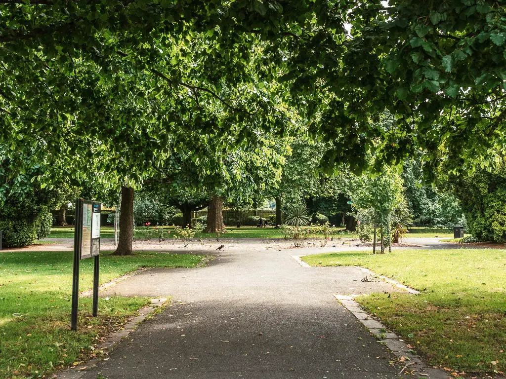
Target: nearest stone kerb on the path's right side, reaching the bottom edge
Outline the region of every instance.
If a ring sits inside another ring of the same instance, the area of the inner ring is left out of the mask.
[[[360,305],[353,300],[358,295],[334,295],[381,343],[385,344],[400,361],[406,363],[399,375],[406,369],[411,370],[418,378],[448,379],[448,375],[437,368],[428,366],[411,350],[395,333],[387,331],[379,321],[370,317]]]

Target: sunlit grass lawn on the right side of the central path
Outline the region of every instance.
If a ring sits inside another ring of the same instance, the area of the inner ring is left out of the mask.
[[[362,266],[421,291],[357,301],[430,364],[506,371],[506,249],[397,250],[308,255],[320,266]]]

